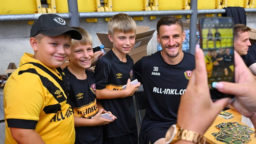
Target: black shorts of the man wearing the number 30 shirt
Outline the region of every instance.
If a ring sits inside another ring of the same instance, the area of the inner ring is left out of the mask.
[[[160,138],[165,138],[165,134],[170,126],[168,127],[155,127],[149,131],[145,131],[140,134],[139,144],[151,144],[155,143]]]

